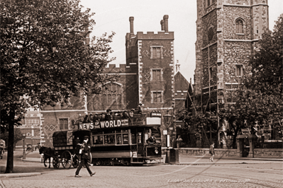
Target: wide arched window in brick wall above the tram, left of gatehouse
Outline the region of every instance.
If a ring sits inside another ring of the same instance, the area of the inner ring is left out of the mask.
[[[102,103],[120,105],[122,103],[122,87],[117,83],[107,83],[102,87]]]

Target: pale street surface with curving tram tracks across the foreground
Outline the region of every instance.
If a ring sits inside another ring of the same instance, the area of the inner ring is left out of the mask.
[[[199,158],[187,160],[196,162]],[[75,178],[74,168],[55,170],[52,166],[45,168],[43,163],[16,160],[15,169],[41,175],[2,177],[0,187],[282,187],[282,161],[243,161],[246,163],[230,160],[228,164],[218,160],[198,165],[92,166],[91,170],[96,172],[94,177],[83,168],[79,174],[82,177]],[[0,164],[2,170],[4,160]]]

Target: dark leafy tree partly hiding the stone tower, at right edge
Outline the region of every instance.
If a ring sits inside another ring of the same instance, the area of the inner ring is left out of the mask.
[[[220,117],[226,117],[235,139],[240,129],[250,129],[258,122],[281,122],[283,119],[282,56],[283,14],[274,26],[259,41],[259,48],[252,55],[249,66],[251,73],[244,80],[244,88],[235,93],[235,105],[221,109]],[[278,123],[276,126],[280,126]],[[281,130],[280,127],[273,127]]]

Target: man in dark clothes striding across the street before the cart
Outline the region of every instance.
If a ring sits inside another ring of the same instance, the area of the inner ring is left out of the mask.
[[[88,160],[90,158],[90,148],[89,145],[87,144],[88,141],[89,141],[89,136],[84,136],[84,142],[82,143],[82,153],[81,153],[82,156],[81,156],[81,160],[79,161],[79,166],[77,168],[76,175],[74,175],[74,177],[82,177],[79,175],[79,170],[81,170],[84,165],[87,168],[87,171],[89,172],[89,175],[91,177],[95,175],[95,172],[92,173],[91,170],[89,169]]]

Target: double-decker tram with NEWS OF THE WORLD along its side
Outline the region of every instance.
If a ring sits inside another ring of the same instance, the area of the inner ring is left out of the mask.
[[[94,165],[131,165],[153,160],[160,163],[160,124],[161,117],[139,114],[129,118],[78,122],[74,126],[89,130]]]

